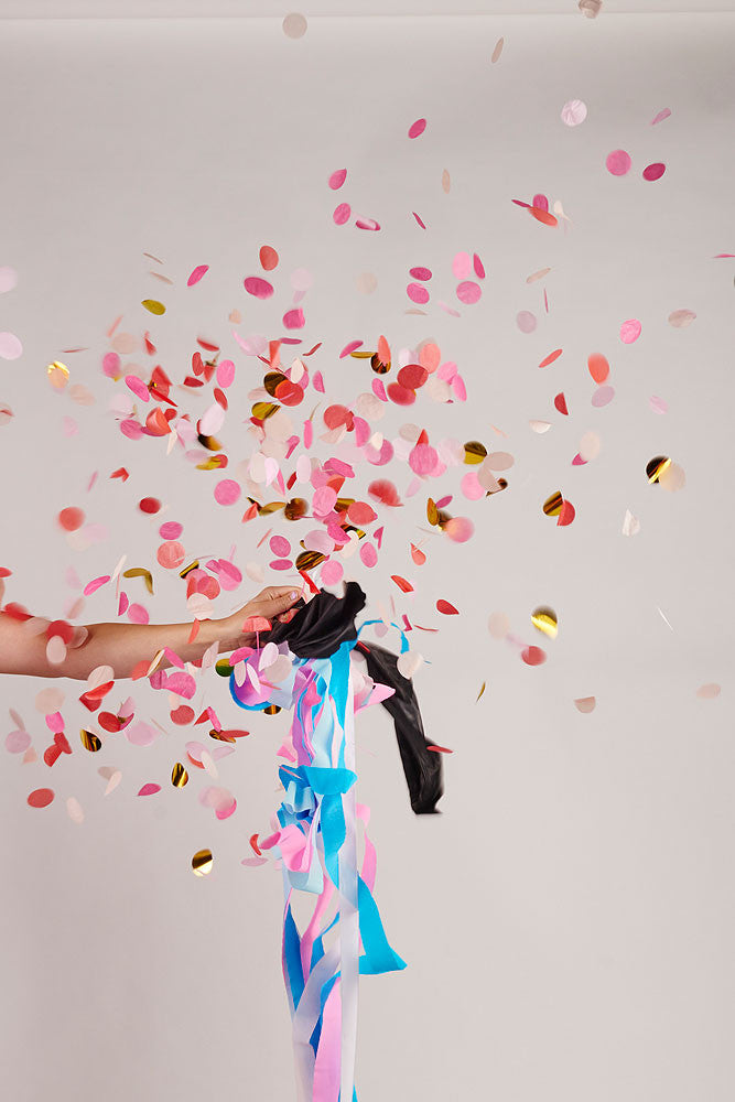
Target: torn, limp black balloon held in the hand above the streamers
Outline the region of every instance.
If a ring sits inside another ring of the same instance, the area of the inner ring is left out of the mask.
[[[321,590],[309,604],[298,602],[293,606],[298,612],[288,624],[277,620],[268,639],[288,642],[296,658],[329,658],[343,642],[357,638],[355,617],[365,603],[357,582],[347,582],[343,597]],[[429,749],[413,682],[398,671],[398,656],[390,650],[363,640],[356,646],[365,656],[372,680],[396,690],[382,706],[396,728],[411,808],[418,815],[437,814],[436,803],[444,791],[442,759],[441,754]]]

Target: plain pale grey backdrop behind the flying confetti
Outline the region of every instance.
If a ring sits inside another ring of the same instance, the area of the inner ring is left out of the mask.
[[[467,402],[420,397],[392,408],[381,430],[396,435],[410,421],[515,457],[508,489],[480,501],[462,497],[468,468],[442,482],[455,495],[450,511],[475,523],[469,543],[422,531],[421,490],[386,521],[378,568],[350,561],[368,612],[392,595],[399,613],[440,629],[414,633],[426,659],[415,688],[429,737],[454,750],[444,813],[417,819],[388,717],[358,717],[376,898],[409,964],[361,985],[364,1102],[732,1096],[735,261],[713,258],[735,252],[734,30],[726,13],[590,21],[576,10],[314,20],[295,41],[279,20],[3,23],[0,266],[19,282],[0,296],[0,329],[23,343],[20,358],[0,360],[0,400],[14,414],[0,425],[6,599],[62,616],[69,564],[85,581],[122,554],[127,566],[150,564],[158,520],[134,508],[145,495],[185,525],[188,555],[236,544],[240,568],[266,561],[256,550],[264,518],[240,525],[241,510],[216,506],[216,473],[120,434],[108,402],[122,383],[100,370],[119,314],[130,332],[154,327],[155,361],[176,380],[197,336],[221,343],[239,372],[230,398],[242,412],[226,430],[236,447],[261,371],[227,315],[240,310],[244,335],[281,335],[288,273],[306,268],[300,335],[304,348],[324,342],[314,367],[331,400],[370,386],[364,360],[338,358],[348,341],[375,348],[385,334],[399,349],[431,338],[458,365]],[[560,118],[571,99],[587,106],[576,127]],[[651,126],[663,108],[670,117]],[[426,129],[411,140],[419,118]],[[605,164],[619,149],[631,158],[624,176]],[[655,162],[663,176],[644,180]],[[332,192],[339,168],[347,182]],[[571,223],[544,226],[511,202],[536,194],[560,201]],[[380,230],[335,226],[342,201]],[[242,280],[258,273],[264,244],[279,250],[280,283],[258,302]],[[455,295],[458,251],[479,253],[487,271],[475,305]],[[149,274],[144,252],[173,285]],[[187,289],[199,263],[209,272]],[[414,266],[434,273],[423,314],[408,312]],[[377,281],[370,294],[358,284],[365,272]],[[145,314],[147,298],[166,303],[165,317]],[[674,327],[678,310],[696,316]],[[536,316],[533,332],[520,331],[520,311]],[[619,338],[628,318],[641,323],[633,344]],[[591,404],[594,352],[616,389],[602,409]],[[94,408],[48,386],[54,359],[95,393]],[[553,406],[560,391],[566,418]],[[65,434],[64,417],[77,434]],[[552,428],[534,433],[534,419]],[[601,453],[573,466],[585,432],[598,434]],[[683,468],[683,489],[649,485],[657,455]],[[109,479],[121,465],[127,485]],[[569,527],[543,515],[555,490],[575,507]],[[54,527],[67,505],[105,525],[107,539],[74,551]],[[626,510],[640,522],[635,536],[623,534]],[[425,540],[420,570],[411,540]],[[402,596],[392,573],[412,577],[415,593]],[[161,622],[186,618],[170,574],[155,574]],[[249,594],[223,595],[218,614]],[[437,598],[460,615],[439,615]],[[555,640],[532,627],[538,605],[556,612]],[[494,639],[493,612],[547,662],[527,666]],[[80,622],[115,615],[108,588]],[[720,696],[699,699],[711,682]],[[42,752],[34,698],[52,683],[3,679],[3,737],[13,707]],[[83,685],[64,688],[72,709]],[[580,713],[574,700],[592,695],[594,712]],[[226,696],[223,682],[223,722],[240,725]],[[166,726],[164,702],[145,699]],[[287,720],[253,721],[247,746],[223,763],[238,798],[224,822],[191,791],[134,797],[183,752],[188,736],[170,724],[151,747],[105,747],[105,764],[123,770],[107,798],[101,763],[73,731],[75,754],[53,770],[3,750],[8,1098],[293,1096],[281,884],[270,868],[240,865],[278,803],[273,755]],[[55,803],[29,808],[28,792],[46,784]],[[85,809],[80,825],[64,810],[69,795]],[[188,862],[206,845],[216,871],[199,879]]]

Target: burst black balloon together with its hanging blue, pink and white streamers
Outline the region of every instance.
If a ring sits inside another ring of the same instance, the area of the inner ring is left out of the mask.
[[[391,712],[417,813],[434,812],[442,793],[441,759],[428,748],[410,681],[397,672],[389,651],[358,644],[354,622],[364,605],[365,594],[355,583],[342,598],[322,592],[289,624],[274,625],[263,646],[230,657],[237,704],[293,711],[291,744],[280,750],[290,764],[279,769],[284,788],[279,827],[259,847],[281,860],[282,966],[299,1102],[356,1100],[358,975],[406,968],[388,943],[372,897],[376,853],[367,834],[358,869],[357,819],[367,827],[369,812],[355,799],[355,711],[385,702]],[[369,623],[375,622],[363,626]],[[388,681],[368,684],[358,699],[350,662],[356,645],[369,680],[380,671]],[[401,647],[408,647],[402,633]],[[294,892],[314,897],[303,932],[293,915]],[[337,911],[328,921],[333,903]],[[335,927],[338,938],[327,949],[324,939]]]

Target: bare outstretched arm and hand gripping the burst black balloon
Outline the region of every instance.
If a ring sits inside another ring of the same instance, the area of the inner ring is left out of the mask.
[[[0,577],[0,673],[21,673],[35,678],[72,678],[86,681],[98,666],[110,666],[115,679],[129,678],[143,659],[152,661],[169,647],[183,662],[199,662],[206,650],[217,644],[217,653],[229,653],[240,647],[256,645],[252,631],[244,630],[247,620],[288,620],[289,609],[304,594],[292,585],[269,585],[236,613],[221,619],[205,619],[199,624],[194,642],[187,642],[191,623],[183,624],[85,624],[75,629],[63,662],[52,665],[46,658],[46,634],[34,634],[30,622],[22,622],[2,612],[3,580]],[[261,639],[267,641],[264,633]],[[155,669],[172,666],[161,659]]]

